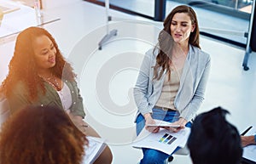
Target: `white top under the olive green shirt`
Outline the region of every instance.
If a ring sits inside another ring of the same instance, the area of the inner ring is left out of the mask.
[[[57,91],[57,93],[59,94],[64,110],[68,110],[72,105],[72,97],[70,89],[65,82],[63,82],[63,88],[60,91]]]

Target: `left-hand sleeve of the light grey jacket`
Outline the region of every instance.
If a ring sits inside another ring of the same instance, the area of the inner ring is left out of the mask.
[[[148,110],[148,82],[149,82],[149,71],[151,69],[151,58],[152,50],[148,50],[144,56],[143,63],[137,76],[137,82],[133,88],[133,95],[138,111],[144,115],[151,113],[152,110]]]

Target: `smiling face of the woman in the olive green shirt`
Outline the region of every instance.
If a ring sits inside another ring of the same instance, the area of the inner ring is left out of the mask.
[[[48,70],[55,66],[56,48],[46,36],[36,37],[33,41],[35,61],[38,71]]]

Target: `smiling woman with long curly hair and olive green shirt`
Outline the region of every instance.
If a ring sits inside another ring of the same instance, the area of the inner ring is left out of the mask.
[[[27,105],[56,106],[66,110],[74,124],[88,136],[99,135],[83,121],[83,99],[72,66],[63,58],[55,39],[40,27],[21,31],[9,63],[9,75],[0,92],[8,99],[11,114]],[[107,147],[96,163],[111,163]]]

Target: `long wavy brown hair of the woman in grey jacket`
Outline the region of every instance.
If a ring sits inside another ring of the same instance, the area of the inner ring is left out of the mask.
[[[168,14],[166,19],[164,20],[164,28],[160,31],[159,37],[158,37],[158,44],[154,48],[156,50],[157,48],[160,49],[159,54],[156,57],[156,65],[154,65],[154,79],[159,80],[162,76],[163,72],[167,70],[170,72],[170,54],[172,54],[173,48],[177,48],[177,43],[173,41],[171,36],[171,24],[172,24],[172,18],[174,14],[177,13],[186,13],[189,14],[189,17],[191,19],[192,25],[195,25],[195,30],[190,33],[189,36],[189,44],[200,48],[199,45],[199,27],[198,27],[198,21],[196,18],[196,14],[193,8],[190,8],[186,5],[180,5],[176,8],[172,9],[172,12]],[[160,73],[158,73],[159,68],[161,68]]]

